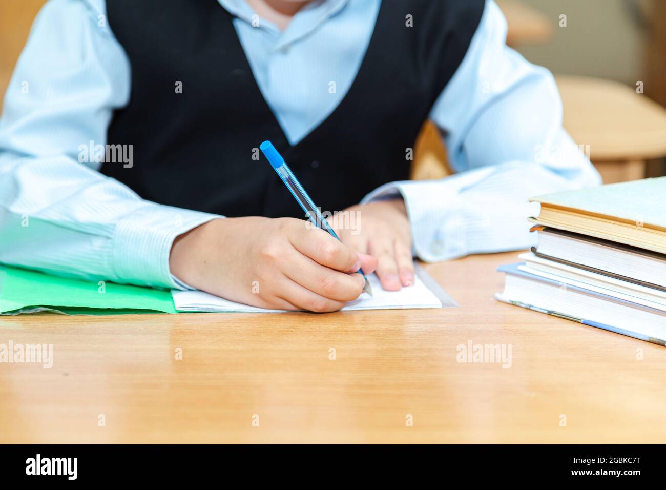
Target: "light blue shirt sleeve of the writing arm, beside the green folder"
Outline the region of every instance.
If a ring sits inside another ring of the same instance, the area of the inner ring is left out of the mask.
[[[87,161],[130,95],[101,0],[50,0],[0,119],[0,261],[59,275],[183,289],[174,239],[218,217],[145,201]],[[83,158],[81,158],[83,155]],[[140,163],[139,163],[140,165]]]

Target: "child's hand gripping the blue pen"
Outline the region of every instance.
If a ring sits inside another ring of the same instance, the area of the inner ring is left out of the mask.
[[[214,219],[174,241],[170,271],[192,287],[268,309],[336,311],[362,292],[377,267],[307,221]]]

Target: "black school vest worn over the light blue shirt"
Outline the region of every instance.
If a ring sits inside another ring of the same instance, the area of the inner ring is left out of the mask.
[[[161,204],[304,217],[268,161],[256,159],[270,139],[322,211],[354,205],[408,179],[408,149],[483,9],[484,0],[384,0],[348,93],[292,146],[218,0],[107,0],[109,26],[131,63],[131,99],[115,111],[107,143],[133,145],[133,166],[106,162],[101,171]]]

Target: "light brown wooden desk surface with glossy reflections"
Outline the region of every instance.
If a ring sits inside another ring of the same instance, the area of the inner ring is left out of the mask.
[[[516,255],[427,266],[460,309],[2,318],[54,363],[0,364],[0,443],[666,441],[666,349],[497,303]]]

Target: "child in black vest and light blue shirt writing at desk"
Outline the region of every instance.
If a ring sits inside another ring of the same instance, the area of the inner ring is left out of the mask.
[[[527,198],[599,175],[505,34],[493,0],[50,0],[0,123],[0,261],[334,311],[359,265],[395,290],[413,254],[528,247]],[[457,175],[408,181],[428,118]]]

